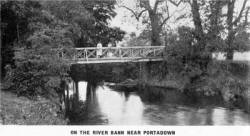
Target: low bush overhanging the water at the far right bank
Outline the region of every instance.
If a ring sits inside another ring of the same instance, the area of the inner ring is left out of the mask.
[[[210,63],[208,74],[188,85],[189,92],[205,96],[221,95],[226,101],[243,98],[247,92],[247,80],[239,76],[233,68],[239,68],[240,65],[242,64],[217,61]]]

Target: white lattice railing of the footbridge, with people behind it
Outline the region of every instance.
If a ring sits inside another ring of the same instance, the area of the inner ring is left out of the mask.
[[[165,46],[76,48],[75,60],[159,58]]]

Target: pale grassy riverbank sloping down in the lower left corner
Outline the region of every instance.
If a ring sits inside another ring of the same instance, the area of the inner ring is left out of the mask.
[[[66,125],[58,105],[39,98],[30,100],[26,97],[1,90],[0,124],[3,125]]]

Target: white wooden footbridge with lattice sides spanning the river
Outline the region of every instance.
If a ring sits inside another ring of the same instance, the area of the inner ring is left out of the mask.
[[[162,61],[165,46],[76,48],[73,63]]]

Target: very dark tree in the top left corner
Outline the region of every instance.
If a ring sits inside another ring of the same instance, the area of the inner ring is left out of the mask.
[[[29,33],[29,18],[41,5],[36,1],[1,1],[1,76],[5,66],[14,67],[14,44],[21,43]]]

